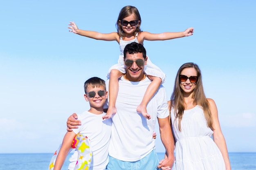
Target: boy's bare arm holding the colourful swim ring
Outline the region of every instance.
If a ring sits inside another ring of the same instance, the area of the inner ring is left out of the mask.
[[[70,148],[72,146],[72,142],[75,136],[76,134],[74,132],[67,132],[64,136],[61,144],[61,149],[58,153],[58,156],[54,164],[54,170],[61,170],[61,167],[63,166],[67,154],[70,152]]]

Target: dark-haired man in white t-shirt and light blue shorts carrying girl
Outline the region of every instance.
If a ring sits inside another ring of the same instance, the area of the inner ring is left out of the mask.
[[[124,49],[126,74],[119,79],[117,113],[112,115],[107,170],[156,170],[160,167],[171,170],[173,166],[174,141],[164,87],[159,87],[147,105],[151,119],[146,119],[136,111],[151,82],[143,72],[146,63],[146,49],[142,44],[132,42],[126,45]],[[155,140],[152,138],[156,119],[167,156],[160,164],[155,152]],[[73,114],[69,117],[67,126],[76,128],[78,122],[74,120]]]

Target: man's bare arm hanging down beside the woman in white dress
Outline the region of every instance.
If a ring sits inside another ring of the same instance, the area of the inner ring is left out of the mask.
[[[167,156],[166,159],[163,159],[162,161],[160,161],[159,166],[157,166],[157,168],[165,167],[171,170],[171,168],[173,167],[175,158],[174,158],[173,132],[171,130],[169,117],[157,118],[157,119],[159,124],[160,137],[166,149],[166,156]]]

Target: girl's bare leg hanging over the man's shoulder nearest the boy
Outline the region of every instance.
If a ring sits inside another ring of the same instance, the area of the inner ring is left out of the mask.
[[[112,116],[112,114],[117,113],[116,109],[116,100],[117,100],[117,93],[119,89],[118,79],[124,75],[117,69],[113,69],[110,71],[110,78],[109,78],[109,86],[108,86],[108,111],[102,119],[108,119]]]

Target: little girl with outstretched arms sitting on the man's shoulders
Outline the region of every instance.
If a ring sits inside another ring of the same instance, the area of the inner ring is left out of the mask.
[[[149,32],[142,32],[140,30],[141,18],[139,11],[136,7],[126,6],[121,9],[119,17],[117,19],[116,27],[117,32],[113,33],[98,33],[95,31],[85,31],[78,29],[74,22],[70,22],[68,27],[70,32],[83,35],[88,38],[94,38],[96,40],[105,41],[117,41],[120,46],[120,52],[118,64],[112,66],[108,72],[109,80],[109,106],[107,114],[103,119],[108,119],[112,114],[116,113],[115,102],[118,93],[118,79],[124,75],[124,47],[126,44],[131,42],[137,42],[143,44],[144,40],[155,41],[155,40],[170,40],[173,38],[181,38],[184,36],[193,35],[194,29],[188,28],[183,32],[166,32],[153,34]],[[137,107],[137,112],[142,113],[144,117],[150,119],[150,115],[147,113],[146,106],[149,100],[153,97],[161,83],[165,82],[165,74],[154,64],[152,64],[148,58],[147,65],[145,66],[144,72],[149,79],[152,80],[148,86],[146,93],[141,101],[141,104]]]

